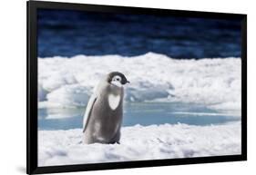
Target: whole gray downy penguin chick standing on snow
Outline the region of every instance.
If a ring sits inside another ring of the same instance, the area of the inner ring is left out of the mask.
[[[123,73],[108,73],[87,103],[83,123],[83,141],[119,143],[123,119],[124,88],[129,83]]]

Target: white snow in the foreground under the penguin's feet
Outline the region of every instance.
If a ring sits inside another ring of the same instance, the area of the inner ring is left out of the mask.
[[[82,129],[38,131],[38,166],[241,154],[241,122],[123,127],[120,144],[83,144]]]

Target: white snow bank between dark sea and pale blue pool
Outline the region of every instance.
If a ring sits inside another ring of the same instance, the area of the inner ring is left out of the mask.
[[[39,108],[86,106],[97,81],[124,73],[126,102],[195,102],[241,110],[241,59],[176,60],[164,54],[38,58]]]

